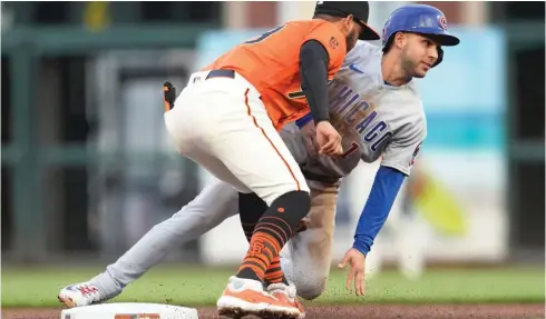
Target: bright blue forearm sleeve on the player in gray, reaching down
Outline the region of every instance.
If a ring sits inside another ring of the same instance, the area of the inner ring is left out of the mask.
[[[383,166],[379,168],[370,197],[360,215],[352,246],[364,256],[370,251],[376,236],[383,227],[404,178],[406,175],[397,169]]]

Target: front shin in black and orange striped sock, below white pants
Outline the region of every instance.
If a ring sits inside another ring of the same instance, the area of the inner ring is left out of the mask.
[[[281,249],[293,237],[310,208],[311,200],[305,191],[291,191],[274,200],[256,223],[237,277],[263,282],[270,266],[277,270],[280,263],[274,261],[279,260]],[[279,277],[280,273],[274,275]]]

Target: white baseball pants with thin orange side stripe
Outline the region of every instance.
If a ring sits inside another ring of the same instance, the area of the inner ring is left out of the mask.
[[[238,73],[207,79],[196,72],[165,113],[178,152],[267,206],[305,179],[267,116],[257,90]]]

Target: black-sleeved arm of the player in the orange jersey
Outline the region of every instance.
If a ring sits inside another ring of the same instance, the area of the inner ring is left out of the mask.
[[[305,42],[300,50],[302,91],[315,123],[330,120],[328,112],[328,64],[324,47],[315,40]]]

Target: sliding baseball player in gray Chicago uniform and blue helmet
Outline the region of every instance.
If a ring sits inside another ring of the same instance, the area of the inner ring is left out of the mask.
[[[383,226],[398,191],[427,136],[426,117],[413,78],[423,78],[443,58],[441,47],[457,46],[443,13],[409,4],[392,12],[383,28],[382,47],[359,41],[329,83],[332,123],[342,136],[344,153],[319,154],[311,117],[286,126],[281,136],[311,189],[306,230],[296,233],[281,252],[284,278],[270,288],[287,286],[294,296],[319,297],[332,261],[335,203],[340,179],[360,161],[380,160],[368,201],[359,219],[354,243],[340,268],[350,266],[347,288],[363,296],[364,257]],[[365,195],[362,195],[365,196]],[[103,273],[61,289],[68,307],[103,302],[160,262],[174,246],[194,240],[237,215],[237,191],[212,179],[203,191],[172,218],[155,226]],[[353,282],[353,283],[352,283]]]

